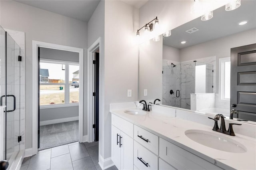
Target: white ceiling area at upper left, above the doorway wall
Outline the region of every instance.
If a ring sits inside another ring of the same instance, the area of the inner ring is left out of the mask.
[[[67,16],[84,22],[88,22],[100,0],[15,0],[22,4],[27,4]]]

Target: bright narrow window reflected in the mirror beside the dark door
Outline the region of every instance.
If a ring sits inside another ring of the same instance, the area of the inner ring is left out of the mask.
[[[219,59],[219,99],[230,100],[230,57]]]

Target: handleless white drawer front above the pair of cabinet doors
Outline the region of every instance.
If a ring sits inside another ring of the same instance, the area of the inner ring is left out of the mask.
[[[128,134],[131,138],[133,138],[133,124],[112,114],[112,125],[119,128],[124,133]]]

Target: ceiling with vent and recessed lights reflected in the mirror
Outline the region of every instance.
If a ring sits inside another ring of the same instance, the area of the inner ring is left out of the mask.
[[[243,26],[238,25],[244,20],[248,23]],[[193,27],[198,28],[199,31],[192,34],[185,32]],[[163,44],[182,49],[253,28],[256,28],[256,1],[242,1],[241,6],[236,10],[225,11],[225,6],[222,6],[214,10],[213,18],[208,21],[201,21],[201,18],[196,18],[174,28],[172,35],[164,38]],[[186,43],[181,44],[182,41],[186,41]]]

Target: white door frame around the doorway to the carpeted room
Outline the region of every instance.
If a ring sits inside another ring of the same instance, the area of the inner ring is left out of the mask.
[[[38,47],[73,51],[79,53],[79,125],[78,138],[83,142],[83,103],[84,103],[84,49],[57,45],[53,43],[32,41],[32,154],[38,151]]]

